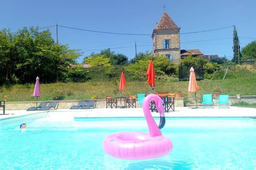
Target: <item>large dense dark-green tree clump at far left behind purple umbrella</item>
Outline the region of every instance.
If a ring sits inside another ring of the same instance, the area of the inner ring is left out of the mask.
[[[55,82],[82,55],[79,50],[56,44],[49,29],[39,32],[38,28],[24,27],[15,34],[0,31],[0,71],[5,76],[0,75],[0,82],[30,83],[36,76],[42,83]]]

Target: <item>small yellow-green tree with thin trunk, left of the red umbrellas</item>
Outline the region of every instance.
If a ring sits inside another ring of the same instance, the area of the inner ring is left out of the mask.
[[[90,56],[88,58],[84,58],[85,64],[90,64],[91,67],[95,67],[98,70],[101,70],[101,82],[103,82],[103,72],[104,68],[107,72],[110,72],[108,67],[111,67],[110,58],[104,58],[103,56]]]

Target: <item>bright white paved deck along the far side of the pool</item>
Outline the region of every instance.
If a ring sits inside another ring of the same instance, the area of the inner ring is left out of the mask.
[[[25,110],[6,110],[5,115],[0,111],[0,120],[49,112],[51,115],[60,117],[76,118],[99,118],[99,117],[144,117],[142,108],[96,108],[96,109],[58,109],[50,111],[25,111]],[[59,114],[63,115],[60,116]],[[159,116],[159,113],[153,112],[153,116]],[[165,112],[165,117],[251,117],[256,118],[256,108],[175,108],[175,112]]]

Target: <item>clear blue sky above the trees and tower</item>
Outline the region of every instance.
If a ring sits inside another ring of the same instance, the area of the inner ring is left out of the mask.
[[[130,1],[84,1],[84,0],[26,0],[2,1],[0,6],[0,29],[10,28],[12,32],[23,26],[69,26],[81,29],[118,32],[151,34],[156,22],[163,14],[162,6],[166,5],[166,12],[181,27],[180,32],[195,32],[235,25],[238,36],[256,38],[255,0],[130,0]],[[56,28],[50,28],[56,40]],[[151,45],[151,36],[115,35],[95,32],[58,28],[59,42],[68,44],[70,48],[91,50],[103,48],[117,48],[137,45]],[[204,54],[233,56],[233,28],[224,30],[181,34],[181,49],[199,48]],[[182,42],[231,38],[197,43],[182,44]],[[240,38],[241,47],[253,39]],[[119,44],[127,43],[127,44]],[[119,45],[111,45],[119,44]],[[108,46],[104,46],[108,45]],[[103,47],[98,47],[103,46]],[[90,48],[91,47],[91,48]],[[135,48],[113,49],[129,57],[135,56]],[[137,52],[151,51],[152,46],[138,47]],[[84,56],[93,51],[85,51],[78,60],[82,62]],[[96,50],[95,53],[100,52]]]

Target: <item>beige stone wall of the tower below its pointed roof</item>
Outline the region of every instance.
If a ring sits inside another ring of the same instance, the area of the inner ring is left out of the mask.
[[[173,62],[179,63],[180,55],[180,28],[154,30],[153,51],[155,56],[172,54]],[[163,41],[170,40],[170,49],[163,48]]]

